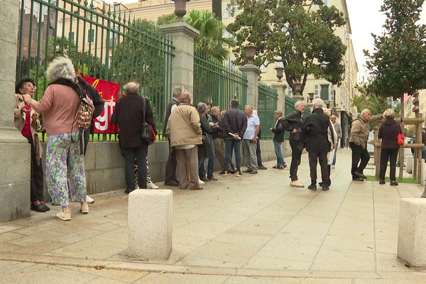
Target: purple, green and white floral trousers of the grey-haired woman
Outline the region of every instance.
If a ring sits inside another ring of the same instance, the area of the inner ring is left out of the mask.
[[[72,140],[71,140],[72,135]],[[46,185],[52,200],[61,207],[71,200],[86,201],[84,160],[80,155],[78,131],[48,136],[46,151]]]

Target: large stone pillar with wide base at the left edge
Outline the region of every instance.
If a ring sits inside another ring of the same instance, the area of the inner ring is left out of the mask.
[[[0,9],[0,222],[30,215],[30,144],[13,126],[19,1]]]

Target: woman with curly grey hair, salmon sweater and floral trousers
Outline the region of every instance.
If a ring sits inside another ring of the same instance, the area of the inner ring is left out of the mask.
[[[71,60],[57,58],[50,62],[46,75],[50,84],[40,102],[24,94],[23,99],[39,114],[48,134],[46,147],[46,184],[52,200],[60,203],[62,211],[56,217],[70,220],[68,207],[70,189],[72,200],[80,201],[82,213],[89,212],[86,202],[86,178],[83,156],[79,148],[79,127],[77,124],[80,96],[92,102],[82,89],[75,84],[75,71]],[[70,187],[70,188],[69,188]]]

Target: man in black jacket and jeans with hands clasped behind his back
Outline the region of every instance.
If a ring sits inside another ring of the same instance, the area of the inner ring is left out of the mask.
[[[236,173],[235,175],[239,177],[241,173],[241,139],[244,136],[244,132],[247,128],[247,116],[243,111],[238,109],[239,101],[238,99],[231,100],[231,108],[226,111],[226,114],[221,120],[222,128],[224,129],[225,141],[225,162],[222,167],[221,175],[228,175],[228,166],[231,160],[232,149],[235,153],[236,161]]]

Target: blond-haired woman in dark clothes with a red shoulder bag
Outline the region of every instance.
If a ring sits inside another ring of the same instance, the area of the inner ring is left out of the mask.
[[[386,168],[388,167],[388,160],[391,164],[391,173],[389,178],[391,178],[391,185],[398,185],[395,178],[396,172],[396,156],[398,155],[398,142],[396,136],[398,133],[402,132],[400,125],[397,121],[393,120],[395,113],[392,109],[386,109],[383,112],[383,118],[386,119],[378,129],[378,138],[381,138],[381,157],[380,157],[380,181],[378,182],[381,185],[384,185]]]

